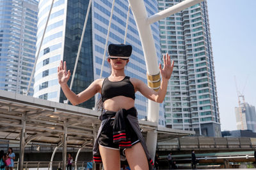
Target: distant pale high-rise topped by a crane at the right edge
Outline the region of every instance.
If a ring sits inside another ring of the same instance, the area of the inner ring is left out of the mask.
[[[251,130],[256,132],[255,107],[248,103],[241,103],[241,108],[236,107],[237,130]]]

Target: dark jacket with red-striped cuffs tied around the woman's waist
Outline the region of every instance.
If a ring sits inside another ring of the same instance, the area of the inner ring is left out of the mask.
[[[131,148],[132,145],[131,145],[130,132],[131,132],[131,129],[133,129],[136,135],[138,136],[138,139],[140,140],[143,150],[145,151],[145,154],[147,156],[148,167],[149,169],[153,169],[154,164],[148,153],[145,139],[141,134],[137,115],[138,115],[137,110],[134,107],[130,108],[129,110],[121,109],[116,112],[104,110],[102,112],[102,115],[100,116],[100,120],[102,120],[102,122],[99,127],[97,139],[95,140],[95,143],[93,146],[93,162],[95,163],[102,162],[100,153],[99,153],[100,133],[102,132],[102,129],[104,129],[104,125],[106,125],[106,123],[108,123],[108,121],[111,120],[111,118],[115,117],[115,120],[113,123],[113,143],[118,143],[120,149]]]

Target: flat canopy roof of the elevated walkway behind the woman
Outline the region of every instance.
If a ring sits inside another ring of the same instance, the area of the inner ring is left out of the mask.
[[[57,146],[62,143],[63,127],[67,125],[67,146],[92,147],[93,136],[100,126],[99,116],[100,113],[94,110],[0,90],[0,139],[19,141],[20,131],[25,126],[26,144]],[[158,140],[195,134],[157,127],[156,123],[145,120],[139,122],[143,133],[157,131]]]

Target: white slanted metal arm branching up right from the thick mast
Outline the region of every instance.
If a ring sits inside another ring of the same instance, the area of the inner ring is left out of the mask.
[[[195,4],[201,3],[202,1],[204,1],[204,0],[182,1],[179,4],[175,4],[175,5],[171,6],[170,8],[167,8],[166,10],[160,11],[159,13],[156,13],[155,15],[148,17],[147,24],[152,24],[154,22],[157,22],[165,17],[173,15],[174,13],[185,10],[186,8],[189,8],[189,6],[193,6]]]

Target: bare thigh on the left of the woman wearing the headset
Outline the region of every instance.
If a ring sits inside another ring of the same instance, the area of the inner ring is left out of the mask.
[[[99,145],[100,156],[105,170],[120,170],[119,150],[105,148]]]

